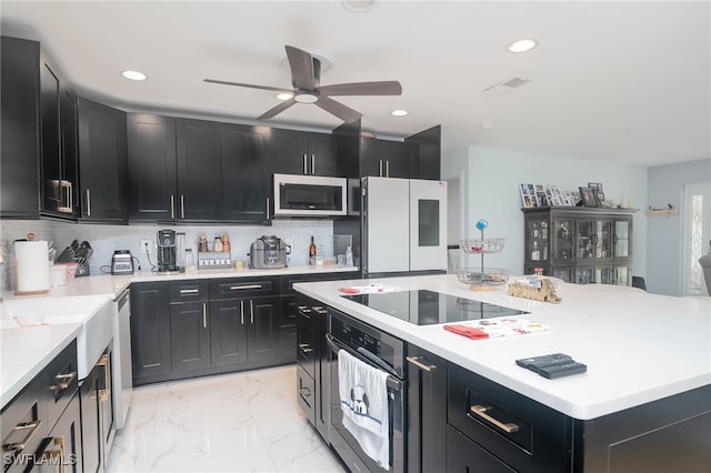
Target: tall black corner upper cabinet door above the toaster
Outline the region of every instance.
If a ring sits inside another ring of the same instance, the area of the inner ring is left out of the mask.
[[[126,112],[80,98],[78,113],[80,220],[127,223]]]

